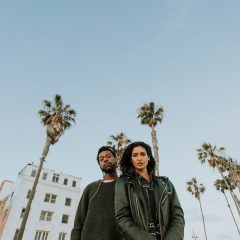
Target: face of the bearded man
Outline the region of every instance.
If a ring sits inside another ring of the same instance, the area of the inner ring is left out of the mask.
[[[116,169],[116,159],[112,153],[108,150],[100,152],[99,156],[99,166],[105,173],[112,173]]]

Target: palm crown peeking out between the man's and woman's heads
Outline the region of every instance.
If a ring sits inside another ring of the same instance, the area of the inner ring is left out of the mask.
[[[107,144],[116,150],[117,164],[119,164],[122,154],[129,143],[131,143],[131,140],[123,132],[110,136]]]

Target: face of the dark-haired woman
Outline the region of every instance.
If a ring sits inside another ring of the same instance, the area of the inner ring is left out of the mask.
[[[144,147],[137,146],[132,151],[132,164],[137,172],[147,170],[149,157]]]

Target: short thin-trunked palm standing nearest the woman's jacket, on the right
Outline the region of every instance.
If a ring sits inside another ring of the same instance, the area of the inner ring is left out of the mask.
[[[190,192],[192,195],[194,195],[194,197],[199,201],[199,205],[202,213],[202,219],[203,219],[205,238],[207,240],[207,232],[206,232],[205,220],[204,220],[201,198],[200,198],[200,195],[205,192],[205,187],[201,183],[198,184],[197,179],[193,177],[190,181],[187,182],[187,191]]]

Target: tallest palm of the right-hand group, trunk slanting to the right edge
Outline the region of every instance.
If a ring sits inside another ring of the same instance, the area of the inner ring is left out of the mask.
[[[208,144],[208,143],[203,143],[202,147],[197,149],[198,159],[201,161],[201,163],[208,162],[210,167],[217,168],[218,172],[220,173],[222,179],[224,180],[233,198],[238,214],[240,215],[240,202],[236,194],[233,191],[231,191],[231,188],[223,174],[225,171],[229,171],[232,165],[231,158],[227,159],[225,157],[226,154],[224,150],[225,149],[223,147],[220,147],[219,149],[217,149],[216,146],[212,146],[211,144]]]

